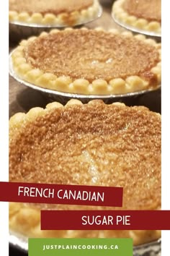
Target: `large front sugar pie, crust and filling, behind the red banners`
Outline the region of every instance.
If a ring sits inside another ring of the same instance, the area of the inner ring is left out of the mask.
[[[16,147],[17,145],[17,147]],[[122,210],[161,208],[161,115],[143,106],[68,101],[9,121],[9,181],[124,187]],[[40,231],[40,209],[120,208],[11,202],[9,228],[28,237],[132,237],[161,231]]]

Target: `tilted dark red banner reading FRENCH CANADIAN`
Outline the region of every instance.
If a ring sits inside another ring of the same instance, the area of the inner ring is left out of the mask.
[[[122,187],[0,182],[0,201],[122,207]]]

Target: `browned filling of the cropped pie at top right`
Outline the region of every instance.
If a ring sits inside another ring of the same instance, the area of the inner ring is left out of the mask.
[[[123,8],[135,17],[161,22],[161,0],[125,0]]]

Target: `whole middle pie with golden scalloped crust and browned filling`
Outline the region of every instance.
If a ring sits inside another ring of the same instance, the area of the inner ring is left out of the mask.
[[[51,30],[22,40],[12,64],[22,80],[64,93],[124,94],[161,84],[161,44],[117,30]]]

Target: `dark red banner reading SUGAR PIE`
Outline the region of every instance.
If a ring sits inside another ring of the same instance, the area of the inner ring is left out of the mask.
[[[42,230],[170,230],[170,210],[42,210]]]

